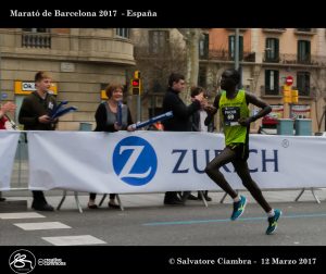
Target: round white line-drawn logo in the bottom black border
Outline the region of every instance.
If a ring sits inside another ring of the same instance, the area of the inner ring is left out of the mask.
[[[35,269],[36,258],[30,251],[20,249],[10,256],[9,265],[17,274],[29,273]]]

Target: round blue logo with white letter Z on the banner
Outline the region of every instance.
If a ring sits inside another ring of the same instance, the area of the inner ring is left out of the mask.
[[[142,186],[156,173],[158,158],[153,147],[136,136],[121,140],[113,151],[113,169],[125,183]]]

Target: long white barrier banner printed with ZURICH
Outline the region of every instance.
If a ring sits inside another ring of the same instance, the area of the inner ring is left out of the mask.
[[[210,133],[29,132],[29,186],[93,192],[217,190],[204,167],[224,148]],[[263,189],[326,187],[326,138],[251,135],[249,167]],[[243,189],[231,164],[221,169]]]

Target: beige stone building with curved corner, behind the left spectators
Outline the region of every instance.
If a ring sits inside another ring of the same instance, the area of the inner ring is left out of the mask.
[[[49,72],[58,101],[78,108],[60,119],[60,130],[77,130],[80,123],[93,127],[101,90],[127,84],[135,66],[127,28],[0,28],[0,37],[1,100],[16,102],[18,113],[35,73]]]

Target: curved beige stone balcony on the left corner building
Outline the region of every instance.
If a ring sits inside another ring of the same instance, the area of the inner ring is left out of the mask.
[[[99,36],[84,34],[83,28],[70,28],[66,33],[15,30],[1,35],[7,41],[2,46],[5,58],[135,65],[133,42],[112,37],[112,29],[104,29]]]

